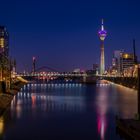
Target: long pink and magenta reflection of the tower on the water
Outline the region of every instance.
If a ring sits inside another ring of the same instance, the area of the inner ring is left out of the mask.
[[[107,129],[106,113],[108,110],[108,88],[99,87],[97,91],[97,125],[101,140],[105,139]]]

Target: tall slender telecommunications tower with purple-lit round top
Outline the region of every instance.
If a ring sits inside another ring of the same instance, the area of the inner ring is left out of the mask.
[[[104,29],[103,19],[102,19],[101,29],[99,30],[98,35],[101,41],[100,74],[102,75],[105,72],[104,40],[107,36],[107,31]]]

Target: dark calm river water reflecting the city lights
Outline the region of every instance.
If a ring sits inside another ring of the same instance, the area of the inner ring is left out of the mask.
[[[27,84],[0,118],[0,139],[120,140],[115,116],[136,113],[136,91],[122,86]]]

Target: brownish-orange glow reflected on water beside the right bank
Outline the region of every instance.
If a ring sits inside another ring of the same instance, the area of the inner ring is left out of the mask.
[[[137,91],[123,86],[113,86],[115,92],[112,100],[112,109],[116,109],[116,114],[121,118],[134,118],[137,113]],[[119,93],[119,94],[118,94]]]

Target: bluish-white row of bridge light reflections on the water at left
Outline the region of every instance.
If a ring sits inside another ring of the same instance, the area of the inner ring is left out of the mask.
[[[72,87],[73,91],[75,91],[74,94],[70,94]],[[60,88],[59,93],[55,94],[53,92],[55,88]],[[37,114],[39,110],[44,112],[84,111],[84,100],[84,96],[81,93],[81,84],[28,84],[13,99],[11,115],[16,114],[17,118],[20,118],[23,109],[31,109],[34,114]]]

